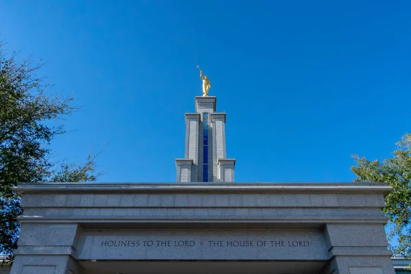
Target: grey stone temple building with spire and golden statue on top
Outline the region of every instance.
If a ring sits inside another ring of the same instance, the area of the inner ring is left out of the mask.
[[[387,184],[235,183],[202,79],[177,182],[20,184],[16,258],[0,273],[406,273],[387,249]]]

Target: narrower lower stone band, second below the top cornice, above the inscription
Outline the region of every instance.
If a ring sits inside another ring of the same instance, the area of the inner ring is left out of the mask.
[[[53,219],[373,219],[379,208],[25,208],[23,216]]]

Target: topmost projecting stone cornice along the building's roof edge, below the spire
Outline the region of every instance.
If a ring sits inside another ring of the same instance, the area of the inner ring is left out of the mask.
[[[135,193],[135,192],[216,192],[216,193],[382,193],[387,195],[392,188],[385,183],[372,184],[77,184],[77,183],[21,183],[14,190],[18,193]]]

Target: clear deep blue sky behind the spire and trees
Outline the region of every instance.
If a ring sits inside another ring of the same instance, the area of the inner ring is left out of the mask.
[[[349,182],[410,132],[410,1],[1,1],[0,38],[80,107],[55,160],[175,182],[197,65],[237,182]]]

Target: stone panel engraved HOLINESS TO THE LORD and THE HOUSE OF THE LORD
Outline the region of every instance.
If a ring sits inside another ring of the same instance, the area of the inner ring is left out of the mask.
[[[86,230],[81,260],[328,260],[316,229]]]

